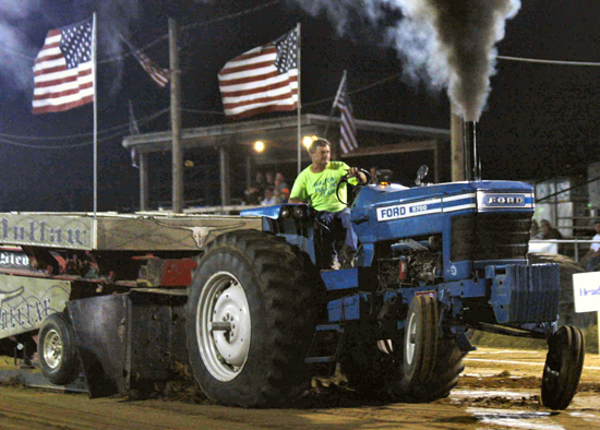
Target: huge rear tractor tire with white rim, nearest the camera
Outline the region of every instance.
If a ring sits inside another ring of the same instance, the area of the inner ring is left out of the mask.
[[[212,399],[280,406],[308,387],[319,272],[285,241],[255,230],[217,237],[190,287],[187,338]]]

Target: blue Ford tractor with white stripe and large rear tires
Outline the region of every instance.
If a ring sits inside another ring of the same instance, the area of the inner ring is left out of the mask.
[[[323,267],[335,236],[307,204],[248,210],[262,231],[218,236],[188,299],[188,347],[203,391],[225,404],[293,398],[339,363],[351,387],[392,401],[445,397],[472,330],[548,341],[541,399],[566,408],[584,337],[557,326],[557,264],[529,264],[535,196],[523,182],[380,182],[349,203],[351,268]],[[347,178],[340,187],[347,186]]]

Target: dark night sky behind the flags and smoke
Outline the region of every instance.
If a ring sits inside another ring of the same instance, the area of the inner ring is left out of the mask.
[[[406,67],[386,40],[387,31],[401,17],[393,7],[387,5],[376,22],[350,12],[344,33],[337,31],[339,21],[323,11],[311,15],[300,0],[281,0],[254,13],[208,23],[264,3],[268,1],[3,1],[0,210],[92,210],[92,105],[33,116],[31,68],[49,29],[82,21],[94,11],[98,13],[99,36],[100,211],[137,202],[137,170],[121,146],[129,133],[128,100],[142,132],[169,127],[168,112],[144,120],[168,109],[169,91],[158,87],[131,56],[123,57],[128,51],[117,32],[137,47],[153,44],[145,52],[159,65],[168,67],[168,16],[184,28],[179,40],[182,108],[188,109],[183,111],[183,127],[225,122],[218,70],[237,55],[279,37],[300,22],[303,112],[328,114],[331,101],[311,104],[333,97],[346,69],[350,91],[398,75],[352,94],[357,118],[449,128],[445,92],[429,89],[425,83],[416,84],[403,75]],[[530,0],[507,22],[499,55],[600,63],[599,22],[597,0]],[[194,23],[199,25],[189,27]],[[118,60],[111,60],[115,58]],[[580,174],[587,163],[600,160],[600,67],[499,59],[495,69],[479,124],[484,179]]]

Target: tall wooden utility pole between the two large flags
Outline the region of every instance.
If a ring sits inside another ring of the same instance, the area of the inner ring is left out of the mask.
[[[171,70],[171,135],[172,135],[172,212],[183,212],[183,150],[181,147],[181,96],[177,21],[169,17],[169,63]]]

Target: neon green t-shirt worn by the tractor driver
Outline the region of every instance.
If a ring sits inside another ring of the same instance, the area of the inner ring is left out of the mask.
[[[313,174],[311,166],[298,175],[289,198],[303,202],[310,199],[311,206],[316,211],[339,212],[345,208],[346,205],[337,200],[335,191],[339,178],[346,175],[350,167],[344,162],[329,162],[325,170]],[[351,178],[350,183],[355,184],[358,181],[356,178]],[[345,202],[348,201],[346,186],[340,188],[339,198]]]

